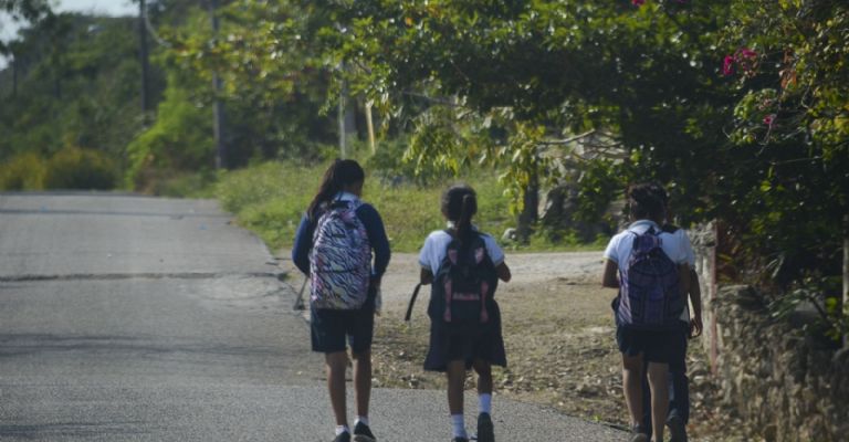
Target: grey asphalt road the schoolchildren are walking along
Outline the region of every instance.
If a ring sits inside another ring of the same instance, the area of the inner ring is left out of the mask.
[[[279,269],[213,201],[0,194],[0,440],[332,440]],[[370,414],[381,441],[450,439],[442,391],[376,389]],[[625,436],[501,397],[493,415],[501,441]]]

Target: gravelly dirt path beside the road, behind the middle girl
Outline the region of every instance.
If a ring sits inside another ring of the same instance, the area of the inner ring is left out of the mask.
[[[615,293],[600,286],[601,252],[507,253],[506,262],[513,281],[499,286],[496,298],[509,367],[494,370],[495,394],[587,420],[625,424],[621,359],[610,312]],[[403,322],[418,276],[418,255],[392,254],[384,276],[384,307],[373,348],[377,387],[444,388],[441,376],[421,368],[429,333],[427,287],[419,293],[412,320]],[[694,371],[703,371],[698,351],[691,351],[689,364],[691,379]],[[470,377],[467,389],[473,388]],[[702,396],[693,391],[692,397],[694,420],[701,421]],[[705,431],[691,425],[691,432]]]

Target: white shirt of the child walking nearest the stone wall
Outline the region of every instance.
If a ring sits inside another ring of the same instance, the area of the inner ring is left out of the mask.
[[[654,221],[639,220],[635,221],[626,230],[617,233],[610,239],[605,250],[605,259],[615,262],[619,266],[619,272],[628,273],[628,261],[633,248],[633,233],[642,234],[649,229],[660,232],[660,248],[675,264],[686,264],[690,269],[695,269],[695,253],[690,238],[683,229],[678,229],[674,233],[663,232]],[[686,296],[686,294],[682,294]],[[685,297],[684,301],[688,298]],[[690,322],[689,302],[684,302],[684,312],[681,314],[681,320]]]

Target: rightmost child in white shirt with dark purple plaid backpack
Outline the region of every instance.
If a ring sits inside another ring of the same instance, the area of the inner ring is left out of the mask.
[[[643,367],[651,392],[653,441],[663,440],[669,408],[669,364],[674,348],[683,295],[690,287],[690,240],[683,232],[664,232],[667,193],[653,183],[627,191],[632,223],[605,250],[602,286],[619,288],[615,303],[616,338],[622,354],[622,386],[631,422],[630,442],[647,442],[642,424]],[[618,277],[617,277],[618,276]]]

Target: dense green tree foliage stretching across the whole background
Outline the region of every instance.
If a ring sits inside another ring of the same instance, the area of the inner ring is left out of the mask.
[[[3,46],[21,67],[13,92],[0,74],[8,186],[44,183],[66,148],[104,152],[143,189],[209,170],[216,99],[228,165],[321,161],[342,96],[360,139],[374,109],[381,141],[369,161],[385,177],[495,168],[528,223],[554,186],[572,192],[572,217],[593,221],[628,182],[658,180],[681,223],[721,220],[730,276],[789,288],[838,274],[849,3],[232,0],[218,31],[198,3],[150,3],[159,105],[148,125],[136,110],[137,22],[0,3],[34,22]]]

